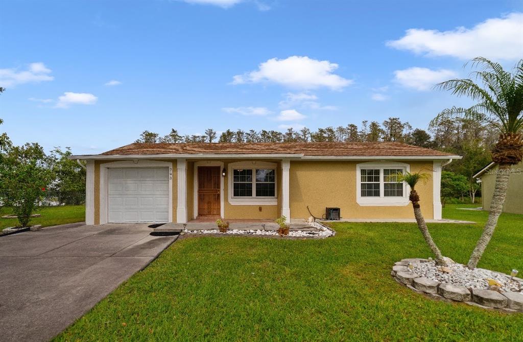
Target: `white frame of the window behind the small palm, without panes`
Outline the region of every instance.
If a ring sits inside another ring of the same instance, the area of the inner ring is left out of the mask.
[[[379,169],[380,170],[380,196],[361,196],[361,170]],[[361,206],[403,206],[408,204],[408,194],[410,186],[403,182],[403,196],[384,196],[383,169],[401,169],[403,172],[410,172],[411,166],[407,163],[393,161],[370,161],[356,164],[356,202]]]

